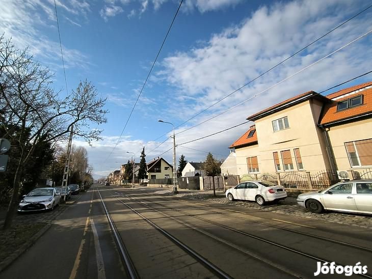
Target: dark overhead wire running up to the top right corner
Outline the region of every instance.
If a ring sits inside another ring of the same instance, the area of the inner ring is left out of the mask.
[[[364,13],[366,10],[368,10],[370,7],[372,7],[372,5],[368,6],[367,8],[365,8],[364,10],[360,11],[359,13],[357,13],[356,15],[352,16],[351,18],[347,19],[346,21],[343,21],[341,24],[337,25],[336,27],[334,27],[332,30],[330,30],[329,32],[325,33],[324,35],[322,35],[321,37],[317,38],[316,40],[312,41],[311,43],[309,43],[308,45],[304,46],[303,48],[301,48],[300,50],[296,51],[295,53],[291,54],[289,57],[287,57],[286,59],[284,59],[283,61],[279,62],[278,64],[276,64],[275,66],[271,67],[270,69],[264,71],[262,74],[259,74],[258,76],[256,76],[255,78],[253,78],[252,80],[250,80],[249,82],[247,82],[245,85],[241,86],[240,88],[234,90],[233,92],[231,92],[230,94],[226,95],[225,97],[223,97],[222,99],[220,99],[219,101],[211,104],[210,106],[206,107],[205,109],[203,109],[202,111],[200,111],[198,114],[194,115],[193,117],[189,118],[188,120],[182,122],[181,124],[179,124],[178,126],[176,126],[175,128],[178,128],[180,126],[182,126],[183,124],[189,122],[190,120],[194,119],[195,117],[199,116],[200,114],[204,113],[206,110],[208,110],[209,108],[211,108],[212,106],[220,103],[221,101],[223,101],[224,99],[226,99],[227,97],[231,96],[232,94],[236,93],[237,91],[240,91],[241,89],[243,89],[244,87],[248,86],[250,83],[252,83],[253,81],[255,81],[256,79],[260,78],[261,76],[263,76],[264,74],[267,74],[268,72],[274,70],[276,67],[280,66],[281,64],[283,64],[285,61],[287,61],[288,59],[290,58],[293,58],[295,55],[297,55],[298,53],[302,52],[303,50],[305,50],[306,48],[308,48],[309,46],[313,45],[314,43],[316,43],[317,41],[323,39],[324,37],[328,36],[330,33],[332,33],[333,31],[335,31],[336,29],[338,29],[339,27],[341,27],[342,25],[348,23],[349,21],[351,21],[352,19],[354,19],[355,17],[359,16],[360,14]],[[171,132],[171,131],[169,131]],[[165,136],[166,134],[168,134],[169,132],[157,137],[156,139],[154,139],[154,141],[156,141],[157,139]]]

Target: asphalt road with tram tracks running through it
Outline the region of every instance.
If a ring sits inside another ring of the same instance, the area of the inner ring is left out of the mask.
[[[360,262],[370,269],[367,277],[372,273],[372,237],[366,229],[160,196],[145,187],[97,186],[0,277],[130,276],[104,207],[141,278],[312,278],[317,262]]]

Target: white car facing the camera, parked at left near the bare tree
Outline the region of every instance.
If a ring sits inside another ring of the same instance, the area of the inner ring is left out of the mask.
[[[36,188],[22,197],[18,212],[53,210],[60,204],[61,194],[56,188]]]

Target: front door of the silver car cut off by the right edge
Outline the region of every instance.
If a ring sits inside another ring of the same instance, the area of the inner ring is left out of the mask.
[[[353,194],[353,184],[352,182],[340,183],[324,192],[322,198],[325,207],[327,209],[343,211],[357,210]]]

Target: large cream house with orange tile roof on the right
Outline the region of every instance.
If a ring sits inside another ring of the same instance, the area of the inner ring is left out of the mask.
[[[327,96],[309,91],[247,118],[230,149],[237,174],[372,167],[372,82]]]

